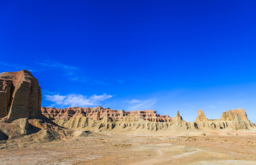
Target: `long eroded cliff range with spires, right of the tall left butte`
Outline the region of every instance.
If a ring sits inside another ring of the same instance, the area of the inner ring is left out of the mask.
[[[192,130],[237,130],[255,127],[247,117],[245,110],[228,110],[234,119],[207,119],[202,110],[198,111],[195,122],[187,122],[182,116],[173,118],[168,115],[158,115],[155,110],[110,110],[108,108],[65,108],[55,109],[42,107],[42,113],[51,118],[56,124],[72,129],[86,130],[140,130],[140,131],[184,131]],[[238,113],[239,112],[239,113]],[[223,112],[225,114],[225,112]],[[241,117],[244,117],[242,120]]]

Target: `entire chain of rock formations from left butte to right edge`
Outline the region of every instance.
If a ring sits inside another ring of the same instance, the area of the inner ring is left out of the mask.
[[[180,131],[250,129],[245,110],[228,110],[220,119],[207,119],[202,110],[194,122],[182,116],[158,115],[155,110],[111,110],[110,108],[47,108],[41,107],[38,80],[26,70],[0,73],[0,140],[18,138],[39,132],[39,142],[72,137],[72,130]],[[61,127],[60,127],[61,126]],[[68,128],[68,129],[67,129]],[[70,129],[72,128],[72,129]]]

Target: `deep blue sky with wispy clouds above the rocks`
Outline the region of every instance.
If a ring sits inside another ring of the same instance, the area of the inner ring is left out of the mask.
[[[26,69],[42,106],[256,122],[255,0],[2,0],[0,72]]]

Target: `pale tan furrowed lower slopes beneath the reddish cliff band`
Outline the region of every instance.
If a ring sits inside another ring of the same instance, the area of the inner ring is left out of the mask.
[[[111,119],[105,117],[100,121],[95,121],[89,117],[78,116],[69,120],[54,120],[59,126],[70,129],[85,130],[113,130],[116,132],[123,131],[185,131],[188,129],[196,129],[193,122],[152,122],[142,118],[126,117],[122,119]]]

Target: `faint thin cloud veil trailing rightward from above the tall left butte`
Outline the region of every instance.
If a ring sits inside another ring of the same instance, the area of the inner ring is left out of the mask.
[[[20,71],[26,69],[28,71],[39,72],[49,71],[51,74],[62,75],[65,79],[72,82],[83,82],[89,84],[99,84],[108,86],[112,83],[124,84],[126,82],[147,82],[148,80],[138,77],[94,77],[89,75],[83,69],[67,65],[64,63],[56,62],[55,60],[42,60],[34,61],[28,65],[20,65],[15,63],[8,63],[0,61],[0,69],[3,71]]]

